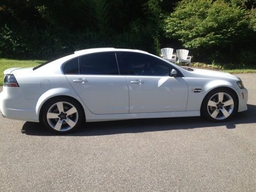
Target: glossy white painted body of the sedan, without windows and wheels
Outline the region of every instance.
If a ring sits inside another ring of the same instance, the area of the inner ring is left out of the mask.
[[[7,118],[39,122],[44,103],[52,97],[66,95],[81,103],[87,122],[199,116],[205,95],[217,87],[234,90],[239,102],[238,111],[247,109],[248,94],[246,89],[238,87],[237,81],[240,79],[219,71],[188,71],[168,62],[183,77],[63,74],[62,64],[72,58],[97,52],[119,51],[147,54],[163,60],[145,51],[103,48],[76,51],[36,70],[7,69],[4,73],[13,74],[20,87],[3,87],[0,93],[2,114]],[[79,78],[84,79],[84,82],[73,82]],[[137,80],[143,83],[131,83]],[[194,92],[195,89],[200,91]]]

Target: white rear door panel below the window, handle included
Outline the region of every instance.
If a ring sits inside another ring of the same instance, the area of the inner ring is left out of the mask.
[[[129,113],[129,93],[125,76],[66,75],[84,104],[93,114]],[[73,80],[82,80],[82,83]]]

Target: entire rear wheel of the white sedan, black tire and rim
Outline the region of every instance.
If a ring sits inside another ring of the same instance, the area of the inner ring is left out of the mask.
[[[47,101],[42,109],[42,121],[45,127],[58,134],[67,134],[75,131],[81,126],[84,117],[80,103],[66,97],[53,98]]]

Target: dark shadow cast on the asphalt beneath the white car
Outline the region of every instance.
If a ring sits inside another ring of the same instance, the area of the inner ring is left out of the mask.
[[[186,130],[201,127],[226,126],[227,129],[235,129],[237,124],[256,123],[256,106],[247,105],[248,109],[238,113],[228,122],[213,123],[202,117],[178,117],[178,118],[149,118],[131,119],[122,121],[106,121],[84,123],[84,127],[74,133],[63,136],[95,136],[122,133],[141,133],[151,131]],[[22,133],[27,135],[54,136],[40,123],[26,122],[22,126]]]

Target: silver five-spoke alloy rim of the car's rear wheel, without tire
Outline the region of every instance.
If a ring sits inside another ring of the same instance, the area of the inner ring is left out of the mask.
[[[46,119],[52,129],[68,131],[77,124],[78,112],[69,102],[57,102],[47,111]]]

